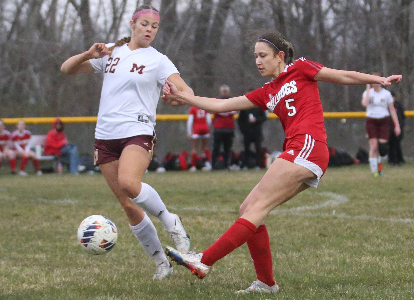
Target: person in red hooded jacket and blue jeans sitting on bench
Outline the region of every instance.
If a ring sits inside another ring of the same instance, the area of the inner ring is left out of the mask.
[[[45,155],[57,155],[67,158],[69,160],[69,172],[72,174],[77,174],[85,169],[84,166],[80,165],[77,145],[67,141],[63,132],[63,122],[59,118],[53,121],[53,129],[46,136],[44,153]]]

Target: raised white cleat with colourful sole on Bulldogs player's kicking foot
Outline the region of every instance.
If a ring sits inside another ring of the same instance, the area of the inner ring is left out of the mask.
[[[198,279],[203,279],[211,268],[201,262],[202,253],[195,253],[195,251],[183,253],[174,248],[167,247],[165,248],[165,254],[171,257],[171,261],[189,269]]]

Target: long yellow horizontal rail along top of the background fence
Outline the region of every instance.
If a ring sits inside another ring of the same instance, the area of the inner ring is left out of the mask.
[[[405,112],[407,117],[414,117],[414,110]],[[364,118],[365,112],[324,112],[323,117],[326,119],[346,119],[346,118]],[[158,114],[157,121],[185,121],[188,114]],[[237,114],[234,115],[237,118]],[[276,115],[269,114],[270,119],[277,119]],[[4,118],[5,124],[16,124],[19,120],[24,120],[27,124],[50,124],[55,117],[28,117],[28,118]],[[64,123],[95,123],[97,117],[60,117]]]

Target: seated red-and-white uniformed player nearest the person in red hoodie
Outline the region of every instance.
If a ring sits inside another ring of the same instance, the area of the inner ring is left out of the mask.
[[[26,130],[26,123],[23,120],[17,122],[17,130],[12,132],[12,146],[13,152],[10,152],[10,160],[15,160],[16,157],[22,158],[20,162],[20,176],[27,176],[28,174],[24,171],[26,169],[26,164],[29,161],[29,158],[33,161],[34,168],[37,175],[42,175],[42,171],[39,167],[39,160],[37,160],[36,154],[30,150],[29,140],[31,138],[31,132]],[[15,167],[15,163],[14,163]],[[10,168],[12,166],[10,165]],[[12,169],[14,173],[15,169]]]

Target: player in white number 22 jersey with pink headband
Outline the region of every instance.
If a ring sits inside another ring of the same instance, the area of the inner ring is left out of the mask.
[[[159,22],[152,6],[141,5],[130,20],[131,37],[115,44],[95,43],[61,67],[69,75],[103,73],[95,160],[125,210],[130,228],[157,265],[154,279],[173,271],[144,210],[161,221],[175,245],[190,249],[180,218],[168,212],[154,188],[142,182],[155,144],[155,110],[166,78],[179,90],[194,94],[168,57],[150,47]]]

